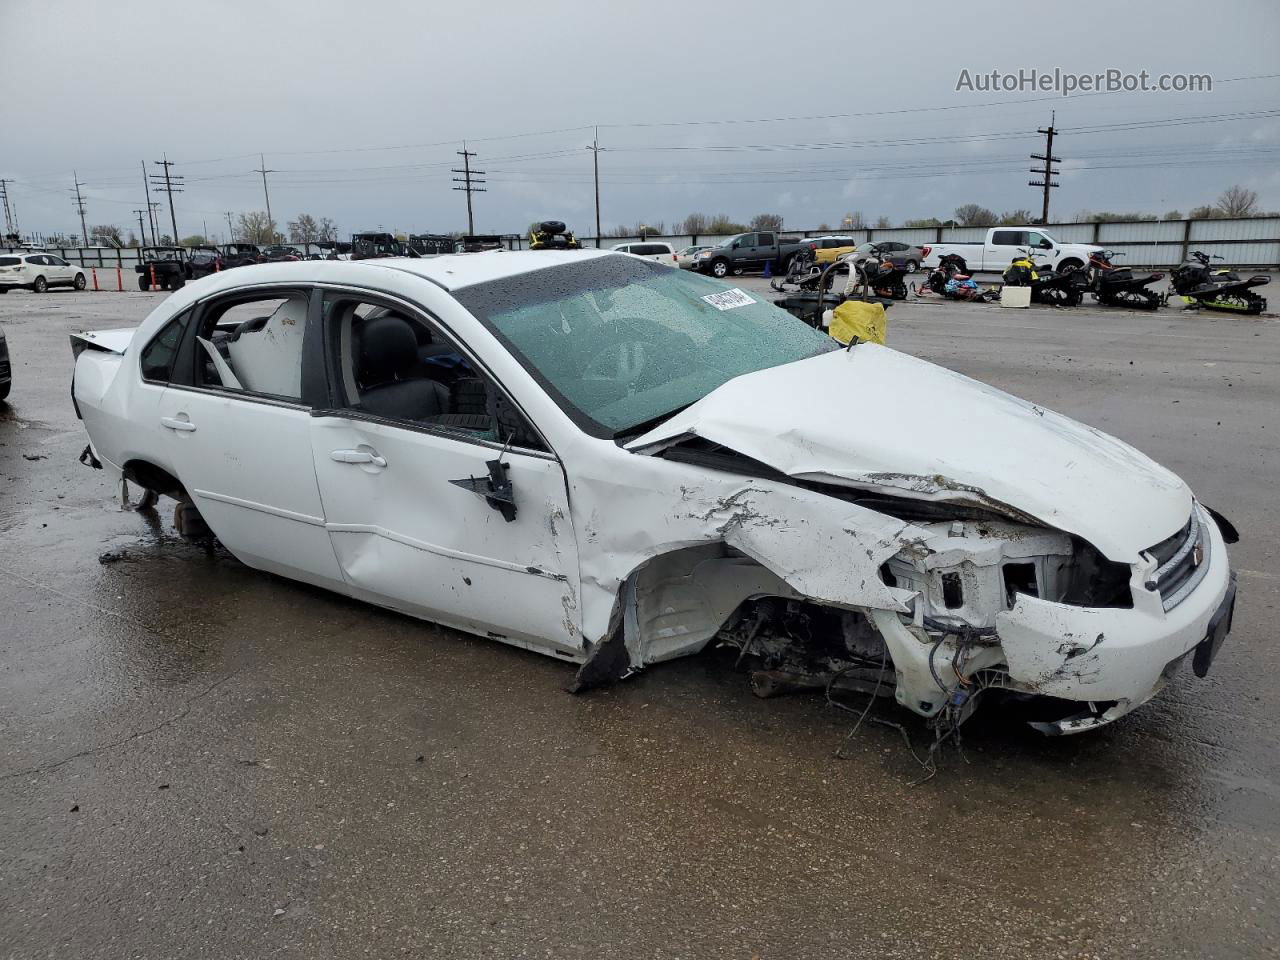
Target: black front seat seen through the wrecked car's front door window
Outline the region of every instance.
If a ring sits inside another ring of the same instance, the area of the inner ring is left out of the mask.
[[[408,320],[388,315],[361,325],[356,379],[362,410],[398,420],[447,412],[449,390],[435,380],[413,379],[417,369],[417,338]]]

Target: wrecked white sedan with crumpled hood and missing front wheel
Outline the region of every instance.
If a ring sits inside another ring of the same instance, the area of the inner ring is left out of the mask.
[[[1231,625],[1230,525],[1106,434],[589,251],[305,261],[73,338],[90,460],[241,561],[579,666],[708,644],[1071,733]]]

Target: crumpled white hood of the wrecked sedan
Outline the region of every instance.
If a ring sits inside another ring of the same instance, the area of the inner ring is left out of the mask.
[[[627,448],[691,436],[797,480],[1032,517],[1121,563],[1192,509],[1187,484],[1129,444],[872,343],[730,380]]]

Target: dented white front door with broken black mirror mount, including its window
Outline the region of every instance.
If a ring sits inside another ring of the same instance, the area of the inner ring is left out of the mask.
[[[516,645],[580,650],[577,544],[545,442],[417,307],[332,289],[324,317],[333,407],[310,434],[349,591]],[[404,346],[388,351],[397,338]]]

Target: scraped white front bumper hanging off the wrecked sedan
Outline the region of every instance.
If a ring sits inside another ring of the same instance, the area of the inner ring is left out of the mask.
[[[1055,726],[1064,728],[1046,732],[1089,730],[1146,703],[1210,637],[1211,625],[1221,627],[1215,640],[1221,645],[1230,630],[1234,575],[1217,524],[1203,511],[1202,520],[1211,540],[1208,570],[1172,609],[1165,611],[1160,594],[1144,586],[1147,572],[1135,571],[1132,609],[1069,607],[1020,595],[1012,609],[997,616],[996,632],[1016,689],[1111,704],[1101,713],[1061,722]],[[1211,653],[1201,653],[1197,660],[1207,671],[1211,658]]]

